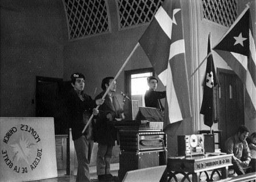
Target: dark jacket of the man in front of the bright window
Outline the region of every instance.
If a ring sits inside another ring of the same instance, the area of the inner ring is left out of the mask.
[[[160,99],[163,99],[165,97],[166,97],[166,91],[159,92],[159,91],[147,90],[144,96],[145,106],[158,108],[159,110],[164,111],[165,108],[163,107]]]

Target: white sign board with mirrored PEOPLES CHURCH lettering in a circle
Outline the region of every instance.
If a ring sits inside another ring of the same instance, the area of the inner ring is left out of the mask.
[[[0,118],[0,181],[57,177],[53,118]]]

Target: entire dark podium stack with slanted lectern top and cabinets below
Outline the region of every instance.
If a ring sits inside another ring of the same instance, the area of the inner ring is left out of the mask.
[[[127,171],[166,164],[167,141],[163,116],[157,108],[139,107],[135,120],[115,124],[119,134],[119,171],[122,181]]]

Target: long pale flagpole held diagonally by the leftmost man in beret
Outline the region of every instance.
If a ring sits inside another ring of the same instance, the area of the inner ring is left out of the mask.
[[[123,66],[120,68],[120,70],[117,72],[117,75],[115,75],[115,78],[112,80],[112,82],[110,83],[109,87],[107,88],[105,94],[102,96],[102,99],[105,99],[107,93],[109,92],[110,90],[110,87],[114,84],[115,80],[118,78],[118,76],[121,74],[121,72],[123,71],[123,68],[125,68],[126,64],[129,62],[131,56],[134,54],[135,50],[138,48],[139,46],[139,43],[137,43],[137,45],[133,48],[133,51],[131,51],[130,55],[127,57],[127,59],[125,60],[125,62],[123,63]],[[96,109],[98,110],[100,105],[98,105],[96,107]],[[91,115],[90,119],[88,120],[85,128],[83,128],[83,132],[85,132],[86,128],[89,126],[89,124],[91,123],[91,120],[93,119],[93,114]]]

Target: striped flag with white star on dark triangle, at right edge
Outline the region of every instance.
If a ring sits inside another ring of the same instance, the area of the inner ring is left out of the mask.
[[[246,7],[214,50],[227,62],[245,86],[245,110],[256,118],[256,58],[250,9]]]

